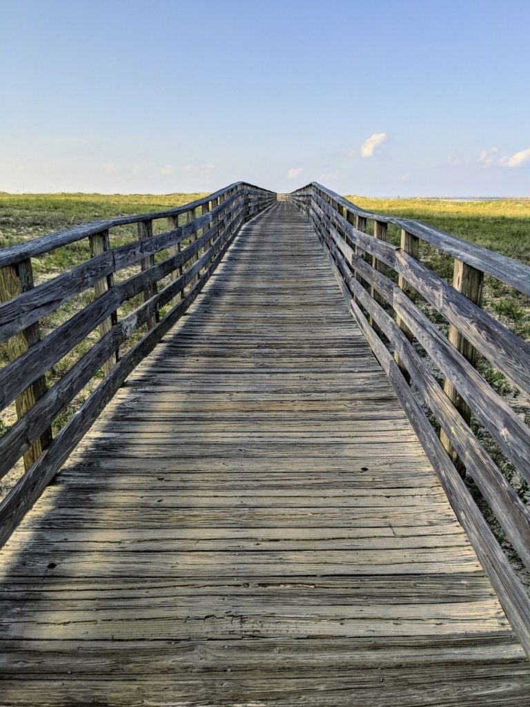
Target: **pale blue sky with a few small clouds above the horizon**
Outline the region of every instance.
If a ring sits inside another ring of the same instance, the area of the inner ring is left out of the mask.
[[[0,190],[530,194],[527,0],[0,0]]]

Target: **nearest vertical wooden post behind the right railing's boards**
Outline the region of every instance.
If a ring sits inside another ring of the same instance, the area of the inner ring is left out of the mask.
[[[481,270],[477,270],[457,258],[454,259],[453,287],[455,290],[461,292],[464,296],[471,300],[471,302],[479,306],[482,299],[483,283],[484,273]],[[449,341],[453,344],[457,351],[460,351],[460,353],[467,358],[469,363],[471,363],[471,366],[476,365],[475,347],[459,332],[457,327],[454,327],[453,325],[449,325]],[[462,399],[454,385],[452,385],[452,382],[450,382],[447,378],[444,382],[444,393],[447,395],[454,407],[457,408],[466,423],[469,424],[471,421],[471,409],[464,399]],[[466,467],[464,467],[463,462],[457,455],[457,452],[454,450],[453,445],[443,430],[440,430],[440,440],[445,450],[447,450],[447,454],[451,457],[452,462],[457,467],[459,473],[462,477],[464,477],[466,474]]]

